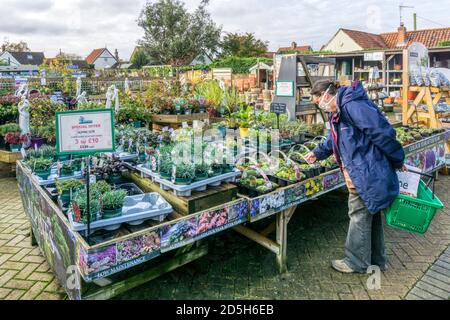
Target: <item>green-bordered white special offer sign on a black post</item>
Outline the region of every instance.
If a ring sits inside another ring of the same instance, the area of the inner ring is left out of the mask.
[[[59,155],[114,152],[113,110],[58,112],[56,146]]]

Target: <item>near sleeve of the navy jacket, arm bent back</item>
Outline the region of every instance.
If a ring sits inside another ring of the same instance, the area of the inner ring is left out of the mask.
[[[397,141],[394,128],[377,107],[354,101],[347,104],[346,111],[353,125],[381,150],[395,169],[401,169],[405,162],[405,151]]]

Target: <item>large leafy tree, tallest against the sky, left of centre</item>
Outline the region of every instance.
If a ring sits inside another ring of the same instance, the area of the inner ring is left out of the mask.
[[[217,54],[222,28],[211,19],[208,3],[202,0],[191,13],[180,0],[148,2],[138,20],[145,33],[139,43],[148,58],[158,64],[182,66],[201,53]]]

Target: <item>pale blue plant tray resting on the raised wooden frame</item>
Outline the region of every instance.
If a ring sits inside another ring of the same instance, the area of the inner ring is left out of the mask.
[[[221,174],[206,180],[197,181],[191,183],[190,185],[177,185],[172,183],[172,181],[161,179],[160,177],[155,178],[155,182],[159,183],[161,189],[163,190],[173,190],[177,197],[190,197],[192,195],[192,191],[205,191],[208,186],[218,187],[223,182],[234,182],[236,177],[240,174],[241,172],[239,170],[235,170],[233,172]]]

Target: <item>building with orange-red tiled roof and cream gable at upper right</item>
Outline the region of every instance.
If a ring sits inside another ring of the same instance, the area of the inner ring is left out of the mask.
[[[425,45],[430,54],[432,67],[450,68],[450,27],[407,31],[401,24],[397,32],[374,34],[341,28],[322,47],[334,52],[336,78],[343,81],[368,81],[373,68],[380,72],[380,82],[388,93],[402,87],[403,49],[414,42]]]

